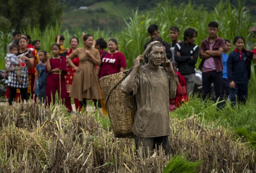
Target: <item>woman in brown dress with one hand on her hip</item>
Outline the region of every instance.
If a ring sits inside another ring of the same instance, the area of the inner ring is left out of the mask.
[[[93,99],[94,104],[102,112],[100,101],[97,101],[101,99],[101,94],[95,71],[95,65],[100,66],[101,63],[100,53],[91,47],[93,44],[92,35],[84,35],[83,42],[84,46],[77,48],[67,58],[68,63],[76,70],[69,97],[77,98],[84,110],[86,110],[86,99]],[[75,57],[79,58],[79,67],[72,62]]]

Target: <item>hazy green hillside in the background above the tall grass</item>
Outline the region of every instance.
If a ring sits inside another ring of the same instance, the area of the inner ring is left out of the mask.
[[[159,0],[157,3],[171,3],[172,5],[184,6],[189,0],[170,1]],[[190,0],[197,7],[204,6],[208,11],[212,11],[219,1],[213,0]],[[230,1],[233,6],[237,6],[238,0]],[[64,3],[64,2],[62,2]],[[210,5],[209,5],[210,4]],[[107,29],[109,31],[121,31],[124,20],[132,17],[132,10],[139,9],[140,14],[156,7],[153,0],[66,0],[66,9],[62,14],[62,26],[66,29]],[[242,6],[247,6],[252,19],[256,19],[256,3],[251,0],[243,0]],[[86,10],[79,10],[80,6],[87,6]]]

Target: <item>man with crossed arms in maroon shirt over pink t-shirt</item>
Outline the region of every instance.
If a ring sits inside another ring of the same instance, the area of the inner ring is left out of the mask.
[[[209,98],[211,84],[214,84],[216,101],[222,100],[222,53],[225,47],[225,40],[217,36],[218,23],[208,24],[209,37],[202,41],[200,47],[200,58],[202,59],[199,69],[202,71],[203,99]],[[218,106],[220,106],[218,104]]]

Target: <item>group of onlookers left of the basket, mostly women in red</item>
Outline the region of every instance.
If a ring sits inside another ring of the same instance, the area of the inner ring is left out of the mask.
[[[31,96],[48,107],[55,103],[57,91],[60,103],[69,111],[73,111],[71,98],[77,110],[82,107],[86,110],[86,100],[91,99],[100,115],[106,114],[99,78],[123,72],[127,67],[117,40],[110,38],[106,42],[99,38],[95,41],[92,35],[85,34],[81,48],[78,48],[77,37],[70,39],[70,48],[63,46],[64,40],[62,35],[56,36],[50,58],[49,52],[40,50],[40,40],[31,44],[29,35],[13,32],[13,42],[7,45],[5,58],[9,105],[21,95],[23,100]],[[104,50],[107,47],[109,51]]]

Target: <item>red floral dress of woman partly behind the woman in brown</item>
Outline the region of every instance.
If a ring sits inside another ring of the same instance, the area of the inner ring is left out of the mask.
[[[72,53],[72,49],[70,49],[67,52],[67,56],[70,55]],[[79,58],[76,57],[72,60],[72,62],[76,65],[79,66]],[[72,86],[72,82],[73,82],[73,78],[74,78],[74,72],[76,72],[76,70],[74,70],[74,68],[72,66],[68,66],[67,69],[67,75],[65,75],[65,84],[66,84],[66,88],[67,88],[67,92],[70,93],[71,90],[71,86]]]

